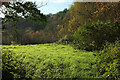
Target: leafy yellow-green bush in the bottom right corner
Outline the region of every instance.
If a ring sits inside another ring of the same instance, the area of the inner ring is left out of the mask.
[[[120,41],[114,44],[107,42],[97,57],[96,67],[100,72],[100,77],[120,78]]]

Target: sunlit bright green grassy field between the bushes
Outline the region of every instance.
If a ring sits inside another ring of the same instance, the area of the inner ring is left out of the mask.
[[[75,50],[70,45],[3,45],[2,50],[4,69],[11,71],[15,78],[98,77],[93,65],[96,62],[94,53]],[[7,63],[11,68],[5,67]]]

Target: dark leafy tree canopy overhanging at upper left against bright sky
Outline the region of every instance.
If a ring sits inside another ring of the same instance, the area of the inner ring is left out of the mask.
[[[17,22],[21,18],[33,20],[35,22],[39,21],[40,24],[46,22],[46,16],[40,12],[35,2],[9,2],[5,7],[3,13],[6,22]]]

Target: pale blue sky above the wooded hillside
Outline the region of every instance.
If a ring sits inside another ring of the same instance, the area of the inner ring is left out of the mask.
[[[26,0],[26,1],[35,1],[38,7],[43,3],[44,6],[39,8],[41,13],[44,14],[55,14],[59,11],[63,11],[65,8],[70,8],[73,3],[73,0]],[[47,4],[46,4],[47,3]],[[46,5],[45,5],[46,4]]]

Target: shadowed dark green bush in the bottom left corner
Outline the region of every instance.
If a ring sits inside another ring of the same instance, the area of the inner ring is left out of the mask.
[[[22,67],[22,62],[13,56],[13,52],[9,49],[2,50],[2,79],[11,80],[15,78],[24,79],[25,70]]]

